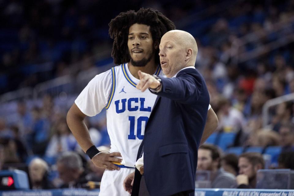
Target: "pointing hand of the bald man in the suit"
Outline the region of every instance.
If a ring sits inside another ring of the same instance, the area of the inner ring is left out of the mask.
[[[152,75],[146,74],[144,72],[138,71],[138,75],[140,78],[139,83],[136,88],[144,92],[146,89],[156,89],[160,85],[160,81],[155,79]]]

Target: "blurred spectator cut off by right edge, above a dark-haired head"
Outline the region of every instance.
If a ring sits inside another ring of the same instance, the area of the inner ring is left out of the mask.
[[[294,151],[294,124],[283,123],[279,129],[282,152]]]

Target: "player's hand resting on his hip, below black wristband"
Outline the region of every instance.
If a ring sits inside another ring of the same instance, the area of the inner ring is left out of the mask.
[[[99,168],[105,168],[112,171],[120,170],[120,168],[117,167],[112,162],[121,163],[122,159],[115,158],[115,156],[122,156],[122,155],[120,153],[102,152],[93,156],[92,162],[94,163],[94,165],[96,165]]]

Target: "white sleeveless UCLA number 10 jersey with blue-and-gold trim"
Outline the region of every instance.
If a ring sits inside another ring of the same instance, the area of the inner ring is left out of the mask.
[[[155,74],[164,77],[160,66]],[[136,89],[139,80],[130,73],[127,63],[111,68],[111,75],[111,92],[105,107],[111,152],[120,152],[122,164],[134,167],[156,95]]]

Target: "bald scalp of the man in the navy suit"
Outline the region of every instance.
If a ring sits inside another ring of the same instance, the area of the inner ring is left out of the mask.
[[[166,32],[164,36],[174,36],[175,41],[183,46],[185,49],[191,48],[193,51],[193,57],[196,61],[196,56],[198,53],[198,47],[195,38],[188,32],[182,30],[171,30]]]

